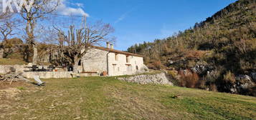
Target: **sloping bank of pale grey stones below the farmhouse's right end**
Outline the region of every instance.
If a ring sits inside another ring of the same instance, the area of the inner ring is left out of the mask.
[[[134,82],[138,84],[166,84],[174,86],[174,84],[169,80],[165,73],[160,74],[142,74],[130,77],[118,78],[122,81]]]

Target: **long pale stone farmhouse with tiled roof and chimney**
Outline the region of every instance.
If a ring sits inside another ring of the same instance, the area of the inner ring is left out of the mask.
[[[143,64],[143,56],[125,51],[118,51],[113,44],[107,47],[93,46],[80,63],[81,73],[103,73],[108,76],[140,74],[148,71]]]

